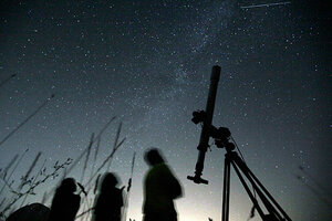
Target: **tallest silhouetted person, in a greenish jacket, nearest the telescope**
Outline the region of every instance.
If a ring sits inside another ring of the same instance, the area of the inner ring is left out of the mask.
[[[183,194],[179,181],[158,149],[146,151],[144,159],[151,167],[144,179],[144,221],[177,221],[173,200]]]

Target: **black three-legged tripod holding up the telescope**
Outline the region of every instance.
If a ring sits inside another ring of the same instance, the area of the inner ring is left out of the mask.
[[[228,221],[229,217],[229,193],[230,193],[230,166],[234,167],[238,178],[240,179],[242,186],[245,187],[250,200],[253,203],[255,209],[258,211],[262,221],[291,221],[283,209],[278,204],[273,197],[268,192],[263,185],[258,180],[258,178],[248,168],[246,162],[239,157],[239,155],[230,149],[227,149],[225,155],[225,167],[224,167],[224,191],[222,191],[222,221]],[[251,183],[253,191],[250,190],[248,183],[246,182],[243,176],[247,177],[248,181]],[[268,214],[264,214],[262,208],[255,197],[257,192],[261,202],[263,203]]]

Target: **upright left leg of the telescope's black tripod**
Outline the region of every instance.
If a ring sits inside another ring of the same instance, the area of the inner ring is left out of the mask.
[[[230,183],[230,161],[225,157],[224,165],[224,191],[222,191],[222,215],[221,221],[228,221],[229,217],[229,183]]]

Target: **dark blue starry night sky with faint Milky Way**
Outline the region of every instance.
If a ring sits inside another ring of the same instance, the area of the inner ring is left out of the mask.
[[[143,152],[155,146],[184,187],[179,220],[220,220],[225,150],[207,152],[208,186],[186,179],[200,135],[191,112],[205,108],[218,64],[214,125],[230,128],[249,168],[293,220],[330,220],[331,13],[319,1],[241,8],[260,3],[269,1],[2,0],[0,80],[17,75],[0,87],[0,139],[55,97],[0,146],[0,168],[27,148],[17,179],[38,151],[50,167],[76,158],[91,133],[116,116],[97,164],[122,122],[126,141],[112,161],[121,185],[137,156],[127,218],[142,218]],[[81,170],[70,176],[80,179]],[[56,182],[27,202],[41,201]],[[230,220],[247,220],[250,208],[232,173]]]

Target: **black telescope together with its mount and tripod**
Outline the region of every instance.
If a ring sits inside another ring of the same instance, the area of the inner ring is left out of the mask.
[[[236,145],[230,141],[231,133],[226,127],[215,127],[212,117],[215,110],[216,95],[218,82],[220,78],[220,66],[214,66],[210,77],[210,86],[208,99],[205,110],[196,110],[193,113],[191,122],[194,124],[203,124],[199,143],[197,146],[198,158],[195,166],[194,176],[188,176],[187,179],[195,183],[208,185],[208,180],[201,178],[205,154],[209,148],[209,139],[215,139],[215,145],[218,148],[225,148],[225,166],[224,166],[224,189],[222,189],[222,213],[221,221],[229,220],[229,196],[230,196],[230,167],[232,166],[241,185],[246,189],[252,204],[252,211],[257,210],[262,221],[291,221],[290,217],[278,204],[260,180],[253,175],[243,160],[243,157],[235,151]],[[251,188],[250,188],[251,186]],[[259,199],[257,199],[259,198]],[[262,208],[262,206],[264,208]]]

